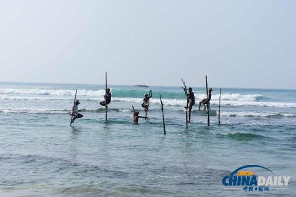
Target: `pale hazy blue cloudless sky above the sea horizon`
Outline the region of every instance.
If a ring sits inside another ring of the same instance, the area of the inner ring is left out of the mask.
[[[0,0],[0,81],[296,89],[295,0]]]

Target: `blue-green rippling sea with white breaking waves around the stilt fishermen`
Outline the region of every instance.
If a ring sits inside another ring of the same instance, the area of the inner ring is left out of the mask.
[[[192,87],[186,129],[181,87],[108,87],[106,121],[105,85],[0,82],[1,197],[296,195],[296,90],[222,88],[219,125],[220,88],[213,87],[207,126],[203,106],[196,111],[206,89]],[[70,126],[76,89],[78,109],[85,108]],[[132,106],[145,116],[149,90],[148,119],[134,123]],[[225,190],[222,178],[245,165],[291,176],[289,184]]]

